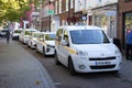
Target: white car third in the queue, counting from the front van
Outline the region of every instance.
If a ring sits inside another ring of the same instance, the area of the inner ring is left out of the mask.
[[[41,35],[41,32],[33,32],[30,35],[30,38],[28,41],[28,46],[30,46],[31,48],[35,48],[36,47],[36,38]]]

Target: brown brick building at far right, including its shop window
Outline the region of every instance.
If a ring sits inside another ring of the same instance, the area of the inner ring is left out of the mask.
[[[132,29],[132,0],[119,0],[118,37],[123,48],[127,29]]]

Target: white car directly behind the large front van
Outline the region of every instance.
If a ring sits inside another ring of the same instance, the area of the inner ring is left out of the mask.
[[[44,56],[54,55],[55,35],[55,32],[43,32],[43,34],[37,38],[36,52],[42,53]]]

